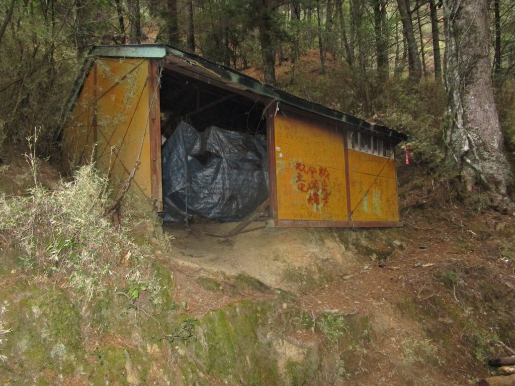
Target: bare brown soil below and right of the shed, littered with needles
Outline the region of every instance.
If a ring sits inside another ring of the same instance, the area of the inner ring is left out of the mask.
[[[209,234],[234,224],[167,227],[174,247],[163,258],[175,265],[177,299],[202,314],[274,296],[232,292],[234,276],[245,274],[294,293],[314,320],[327,311],[368,318],[372,343],[356,347],[359,364],[342,384],[474,383],[493,371],[489,357],[507,355],[497,340],[515,345],[515,214],[479,213],[427,186],[401,189],[401,229],[264,229],[224,239]],[[220,291],[199,277],[215,278]]]

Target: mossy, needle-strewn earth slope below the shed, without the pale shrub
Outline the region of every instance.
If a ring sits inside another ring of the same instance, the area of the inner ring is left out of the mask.
[[[2,191],[25,195],[24,157],[10,150],[3,162]],[[177,311],[152,314],[143,292],[129,308],[114,288],[85,313],[61,310],[75,298],[10,260],[14,246],[4,234],[0,295],[13,330],[0,346],[8,358],[0,380],[375,386],[465,385],[489,376],[488,359],[508,355],[498,342],[515,346],[515,214],[494,212],[480,196],[459,200],[416,167],[399,171],[401,228],[222,238],[212,234],[234,224],[198,222],[165,225],[165,248],[150,236],[155,231],[134,225],[132,236],[152,244],[152,267],[171,278],[170,304],[183,305],[178,318],[197,323],[195,340],[184,343],[163,341]],[[58,178],[41,165],[45,186]],[[76,321],[74,338],[53,327],[64,323],[55,312]]]

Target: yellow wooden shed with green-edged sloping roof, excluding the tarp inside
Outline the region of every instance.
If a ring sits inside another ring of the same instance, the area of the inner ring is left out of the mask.
[[[180,121],[266,136],[269,225],[398,226],[393,148],[405,135],[164,44],[97,46],[63,146],[163,210],[162,138]],[[136,161],[139,160],[139,161]]]

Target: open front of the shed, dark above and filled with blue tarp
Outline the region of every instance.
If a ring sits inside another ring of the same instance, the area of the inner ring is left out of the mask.
[[[268,198],[264,108],[258,98],[164,69],[165,222],[240,221]]]

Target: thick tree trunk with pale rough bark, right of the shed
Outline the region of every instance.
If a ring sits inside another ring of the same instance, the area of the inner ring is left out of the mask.
[[[482,185],[506,196],[512,173],[493,98],[487,0],[444,0],[446,159],[467,188]]]

